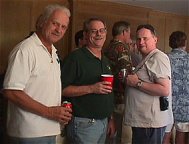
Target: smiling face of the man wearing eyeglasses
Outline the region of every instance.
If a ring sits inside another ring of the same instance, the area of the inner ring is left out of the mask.
[[[85,35],[87,45],[92,48],[102,48],[106,40],[106,28],[101,21],[92,21]]]

